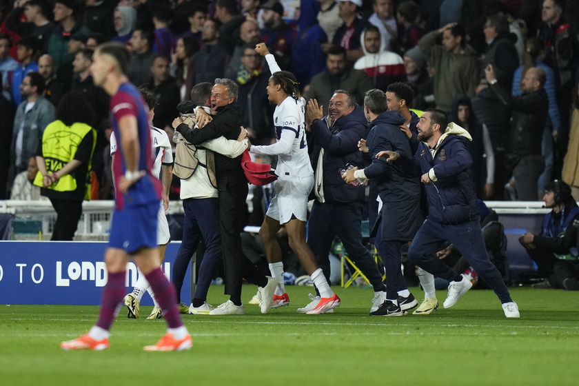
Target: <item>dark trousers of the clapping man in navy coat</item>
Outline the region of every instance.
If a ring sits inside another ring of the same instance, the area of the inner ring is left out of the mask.
[[[349,258],[354,261],[358,269],[368,278],[374,291],[384,290],[382,275],[378,265],[362,245],[362,204],[361,203],[319,203],[314,201],[312,213],[307,225],[307,244],[314,252],[318,265],[329,281],[329,251],[332,248],[334,237],[338,236],[344,245]],[[398,266],[399,267],[399,266]]]

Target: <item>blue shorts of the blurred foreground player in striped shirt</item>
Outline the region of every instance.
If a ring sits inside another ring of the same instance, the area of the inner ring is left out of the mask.
[[[110,226],[109,247],[131,254],[143,247],[157,246],[159,203],[115,210]]]

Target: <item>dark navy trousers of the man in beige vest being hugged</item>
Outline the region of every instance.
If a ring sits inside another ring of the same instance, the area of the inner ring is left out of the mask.
[[[219,199],[185,199],[183,200],[183,241],[173,264],[173,284],[177,298],[181,301],[183,278],[189,261],[199,247],[201,238],[205,243],[205,254],[199,266],[195,298],[205,301],[207,291],[221,262],[221,230],[219,228]],[[193,268],[195,269],[195,268]]]

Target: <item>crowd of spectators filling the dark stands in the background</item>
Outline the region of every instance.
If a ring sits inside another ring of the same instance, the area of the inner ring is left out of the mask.
[[[154,125],[170,138],[176,105],[190,99],[193,86],[228,77],[240,87],[250,139],[274,141],[265,92],[270,74],[252,51],[264,41],[281,68],[296,75],[306,100],[316,99],[324,112],[334,90],[352,92],[362,105],[367,90],[386,91],[397,81],[414,90],[410,108],[440,108],[455,121],[464,111],[460,122],[478,139],[479,197],[537,200],[565,163],[577,163],[576,149],[565,154],[577,125],[571,115],[578,13],[563,0],[5,0],[0,199],[10,197],[67,92],[80,92],[94,110],[92,171],[103,189],[93,198],[111,198],[103,156],[108,96],[92,85],[90,64],[96,45],[112,40],[132,49],[130,81],[154,90]],[[545,74],[537,90],[521,87],[529,68]],[[23,89],[30,72],[43,78],[34,101],[26,83]],[[563,178],[579,197],[571,174]]]

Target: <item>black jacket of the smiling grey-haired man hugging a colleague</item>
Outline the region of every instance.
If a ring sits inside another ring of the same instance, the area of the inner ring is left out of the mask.
[[[193,145],[199,145],[220,136],[225,136],[225,139],[238,139],[241,133],[240,126],[239,106],[230,104],[217,108],[217,114],[213,116],[213,121],[200,130],[192,129],[185,123],[181,123],[177,126],[177,131]],[[218,179],[223,176],[243,174],[241,156],[229,158],[223,154],[215,153],[215,173]]]

